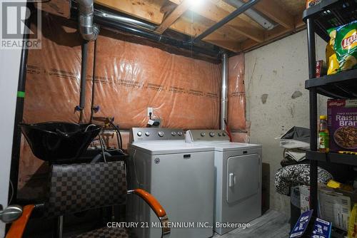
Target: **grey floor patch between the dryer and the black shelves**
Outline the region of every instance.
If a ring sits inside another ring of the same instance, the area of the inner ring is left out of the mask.
[[[221,236],[215,234],[213,238],[286,238],[290,232],[289,218],[274,210],[269,210],[249,224],[249,228],[237,228]]]

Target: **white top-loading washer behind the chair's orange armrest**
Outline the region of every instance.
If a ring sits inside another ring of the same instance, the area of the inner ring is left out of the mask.
[[[156,197],[171,222],[171,238],[211,237],[213,147],[185,143],[183,130],[167,128],[132,128],[129,141],[129,189]],[[126,217],[139,222],[137,237],[161,237],[159,219],[136,196],[128,196]]]

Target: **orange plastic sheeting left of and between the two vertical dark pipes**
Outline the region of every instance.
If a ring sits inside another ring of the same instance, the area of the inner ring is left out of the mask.
[[[81,77],[81,38],[73,29],[50,16],[42,18],[42,49],[30,50],[27,61],[24,122],[78,122]],[[35,27],[35,26],[31,26]],[[91,72],[92,43],[88,72]],[[89,120],[91,82],[87,76],[86,120]]]

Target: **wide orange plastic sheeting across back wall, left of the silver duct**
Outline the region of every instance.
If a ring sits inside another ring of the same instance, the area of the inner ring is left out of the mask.
[[[46,16],[42,49],[29,51],[24,121],[78,122],[81,38],[76,26]],[[89,46],[85,120],[89,120],[94,43]],[[95,116],[114,116],[122,129],[146,126],[147,108],[163,127],[218,128],[221,67],[158,48],[116,39],[97,40]]]

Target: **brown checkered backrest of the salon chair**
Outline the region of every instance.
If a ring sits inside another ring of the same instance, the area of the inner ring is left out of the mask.
[[[126,202],[123,161],[52,165],[46,217],[83,212]]]

